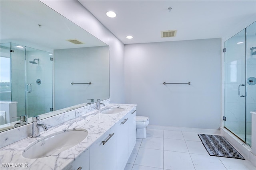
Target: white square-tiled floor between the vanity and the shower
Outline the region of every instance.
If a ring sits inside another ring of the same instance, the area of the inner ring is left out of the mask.
[[[147,129],[125,170],[256,170],[249,160],[210,156],[197,133]]]

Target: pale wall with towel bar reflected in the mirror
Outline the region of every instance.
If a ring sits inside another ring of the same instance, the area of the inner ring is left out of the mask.
[[[108,53],[108,46],[54,50],[55,110],[109,98]]]

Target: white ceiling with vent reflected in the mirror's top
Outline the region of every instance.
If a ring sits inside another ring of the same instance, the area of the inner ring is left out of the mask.
[[[106,45],[38,0],[1,0],[0,20],[1,43],[45,51]],[[69,39],[83,44],[70,43]]]

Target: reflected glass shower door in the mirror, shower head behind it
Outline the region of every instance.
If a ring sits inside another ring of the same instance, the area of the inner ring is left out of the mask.
[[[26,113],[52,111],[52,53],[26,47]]]

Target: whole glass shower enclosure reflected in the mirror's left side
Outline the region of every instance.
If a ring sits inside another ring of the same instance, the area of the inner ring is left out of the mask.
[[[10,122],[19,120],[15,116],[32,117],[52,111],[51,58],[52,53],[46,51],[15,43],[0,44],[0,101],[17,104]]]

